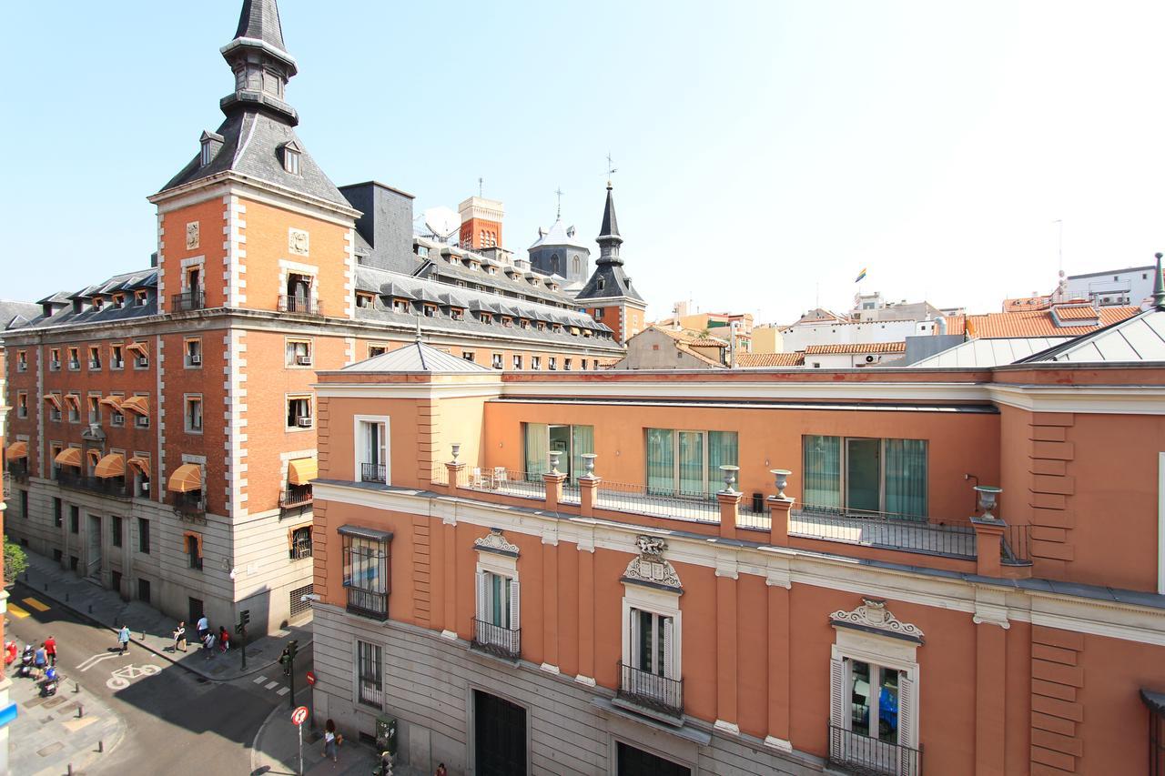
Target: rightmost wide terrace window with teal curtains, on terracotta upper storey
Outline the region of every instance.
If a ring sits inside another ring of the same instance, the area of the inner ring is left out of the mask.
[[[806,509],[926,517],[925,439],[806,435],[802,450]]]

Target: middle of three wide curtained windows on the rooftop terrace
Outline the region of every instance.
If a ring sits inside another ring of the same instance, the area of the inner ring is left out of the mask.
[[[712,495],[720,491],[721,466],[737,465],[735,431],[647,429],[648,489]]]

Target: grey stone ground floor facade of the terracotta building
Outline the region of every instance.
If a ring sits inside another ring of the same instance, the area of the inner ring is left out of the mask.
[[[527,774],[564,776],[824,768],[812,755],[779,753],[761,739],[726,735],[692,718],[680,728],[656,722],[615,706],[605,687],[529,661],[494,657],[461,639],[373,622],[325,604],[313,608],[316,715],[361,736],[374,735],[377,719],[395,719],[397,761],[422,773],[442,762],[450,774],[482,773],[479,760],[486,756],[517,757]],[[360,652],[369,646],[380,650],[379,692],[373,677],[361,676]]]

